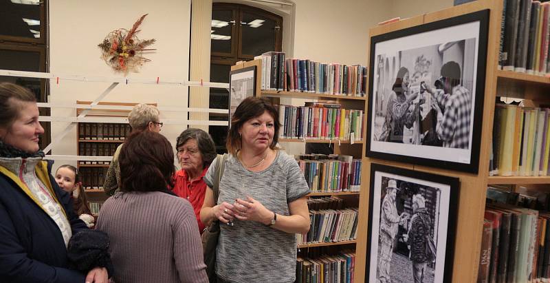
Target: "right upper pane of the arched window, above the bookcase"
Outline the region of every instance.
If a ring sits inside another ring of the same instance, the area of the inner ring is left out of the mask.
[[[276,21],[250,12],[243,12],[241,21],[242,54],[256,56],[275,50]]]

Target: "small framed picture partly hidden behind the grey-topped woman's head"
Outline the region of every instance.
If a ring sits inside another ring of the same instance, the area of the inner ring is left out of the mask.
[[[229,125],[231,117],[241,101],[256,96],[256,66],[244,67],[229,72]]]

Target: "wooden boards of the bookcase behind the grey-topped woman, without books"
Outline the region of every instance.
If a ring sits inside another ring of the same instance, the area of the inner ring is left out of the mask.
[[[256,96],[269,98],[272,104],[278,105],[281,103],[281,98],[301,98],[307,101],[336,101],[336,103],[342,105],[345,109],[358,109],[363,110],[363,113],[366,112],[366,96],[344,96],[341,94],[318,94],[311,92],[284,92],[284,91],[273,91],[273,90],[261,90],[261,73],[262,73],[262,63],[261,59],[256,59],[248,62],[237,62],[236,65],[231,67],[231,70],[240,70],[245,67],[256,66]],[[363,119],[364,123],[364,119]],[[364,132],[364,127],[363,127]],[[362,134],[364,137],[364,133]],[[331,143],[334,145],[334,154],[345,154],[353,156],[353,158],[362,158],[364,156],[364,138],[354,140],[351,143],[351,140],[338,140],[338,139],[303,139],[303,138],[279,138],[279,143]],[[363,165],[362,165],[363,166]],[[362,179],[362,184],[365,181]],[[361,186],[361,189],[364,189],[364,185]],[[340,191],[340,192],[314,192],[307,195],[311,197],[330,197],[338,196],[342,198],[345,202],[345,208],[349,207],[358,207],[360,202],[360,192],[359,191]],[[359,223],[364,221],[361,214],[358,213],[358,227],[360,229]],[[357,233],[360,233],[358,231]],[[355,250],[355,245],[357,240],[344,240],[340,242],[319,242],[312,244],[298,244],[298,249],[310,249],[310,248],[322,248],[322,247],[331,247],[340,250],[342,249]],[[357,255],[356,255],[357,257]],[[355,259],[357,262],[357,258]],[[355,264],[355,269],[357,269],[357,264]],[[357,274],[357,273],[355,273]],[[357,275],[355,275],[357,276]],[[357,277],[355,277],[357,278]],[[356,282],[362,282],[362,280],[355,280]]]

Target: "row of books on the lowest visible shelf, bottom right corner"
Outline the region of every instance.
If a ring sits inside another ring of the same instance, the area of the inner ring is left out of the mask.
[[[524,187],[487,188],[478,282],[550,279],[548,199],[548,192]]]

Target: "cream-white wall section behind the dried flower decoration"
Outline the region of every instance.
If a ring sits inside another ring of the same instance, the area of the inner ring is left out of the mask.
[[[100,59],[97,47],[104,36],[118,28],[130,29],[142,14],[148,13],[137,34],[140,39],[157,39],[140,73],[129,77],[186,80],[190,41],[190,0],[133,1],[50,1],[50,72],[85,76],[124,76],[114,73]],[[208,78],[206,78],[208,81]],[[110,83],[52,81],[50,101],[74,103],[93,101]],[[157,103],[159,106],[187,106],[188,89],[166,85],[118,85],[103,101]],[[52,109],[52,116],[76,116],[74,109]],[[163,118],[181,118],[186,114],[162,112]],[[67,123],[52,123],[52,140]],[[164,125],[162,134],[175,138],[184,125]],[[76,129],[54,146],[54,154],[76,154]],[[68,163],[56,161],[56,165]],[[74,164],[74,163],[73,163]]]

